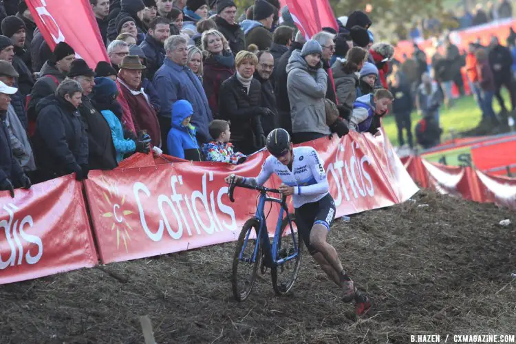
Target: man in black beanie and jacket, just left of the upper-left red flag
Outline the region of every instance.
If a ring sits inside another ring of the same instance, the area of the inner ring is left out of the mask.
[[[32,77],[31,69],[25,64],[24,60],[30,61],[30,53],[25,48],[25,23],[15,16],[9,16],[3,19],[2,32],[6,37],[9,37],[14,46],[14,57],[12,58],[12,66],[18,74],[18,87],[23,98],[30,94],[30,90],[34,86],[34,78]]]

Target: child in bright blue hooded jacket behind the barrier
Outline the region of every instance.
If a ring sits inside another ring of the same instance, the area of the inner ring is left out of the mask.
[[[202,161],[195,127],[190,120],[193,108],[188,100],[178,100],[172,106],[172,129],[166,138],[169,154],[184,160]]]

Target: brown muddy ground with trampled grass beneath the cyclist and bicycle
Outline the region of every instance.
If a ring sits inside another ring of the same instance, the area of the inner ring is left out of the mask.
[[[516,334],[515,213],[420,191],[336,222],[330,242],[374,310],[357,319],[304,255],[288,297],[270,275],[230,288],[234,243],[0,286],[0,343],[408,343],[411,334]],[[420,204],[428,206],[418,207]],[[510,219],[510,226],[499,226]],[[306,253],[306,250],[304,251]],[[443,339],[441,339],[443,341]]]

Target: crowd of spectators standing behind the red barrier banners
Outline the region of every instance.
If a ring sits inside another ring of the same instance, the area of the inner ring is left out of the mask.
[[[109,62],[89,66],[65,42],[50,49],[25,0],[8,3],[1,8],[1,190],[69,173],[83,180],[135,152],[240,164],[277,127],[294,143],[350,130],[376,135],[388,111],[400,144],[406,130],[413,147],[410,114],[418,109],[416,139],[431,147],[440,140],[440,105],[452,105],[457,67],[466,65],[486,122],[497,119],[490,106],[499,88],[513,89],[506,73],[513,57],[497,42],[488,50],[472,45],[462,63],[447,41],[428,73],[417,45],[392,63],[394,47],[374,41],[361,11],[307,40],[277,0],[246,9],[231,0],[90,0]]]

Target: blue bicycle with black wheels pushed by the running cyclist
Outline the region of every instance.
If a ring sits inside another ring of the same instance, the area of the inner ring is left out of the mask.
[[[249,297],[252,286],[255,284],[260,262],[262,275],[267,268],[270,268],[272,288],[275,292],[279,295],[287,294],[294,286],[301,267],[303,244],[300,244],[301,236],[299,233],[296,235],[292,227],[295,219],[294,215],[288,213],[286,196],[283,196],[277,189],[236,183],[235,175],[231,175],[228,189],[228,197],[231,202],[235,202],[233,191],[236,186],[257,190],[260,195],[255,216],[248,219],[242,227],[233,257],[231,283],[235,299],[245,301]],[[269,197],[267,193],[279,193],[281,198]],[[267,231],[267,216],[264,213],[266,202],[271,203],[271,208],[272,203],[281,205],[272,246]],[[286,215],[285,218],[283,215]],[[243,273],[241,274],[241,272]]]

